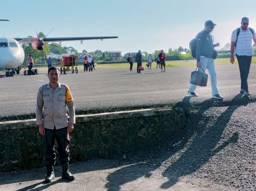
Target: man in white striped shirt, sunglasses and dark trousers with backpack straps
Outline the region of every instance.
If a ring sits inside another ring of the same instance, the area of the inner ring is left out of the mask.
[[[241,91],[244,95],[251,95],[248,90],[248,75],[251,67],[252,56],[254,54],[252,47],[252,40],[256,45],[256,33],[254,29],[248,27],[249,18],[243,17],[241,20],[241,27],[232,32],[230,62],[234,64],[234,50],[239,64],[241,77]]]

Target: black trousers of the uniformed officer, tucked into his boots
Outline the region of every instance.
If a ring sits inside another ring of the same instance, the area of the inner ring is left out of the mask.
[[[60,163],[69,162],[69,134],[68,127],[56,129],[46,129],[45,136],[43,136],[43,149],[45,156],[45,164],[54,165],[56,161],[55,153],[55,139],[58,143],[58,153]]]

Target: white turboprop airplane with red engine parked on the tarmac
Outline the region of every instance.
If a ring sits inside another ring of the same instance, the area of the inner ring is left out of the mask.
[[[21,43],[23,42],[31,43],[32,48],[34,50],[43,50],[44,42],[59,42],[60,45],[62,41],[80,40],[82,44],[83,40],[103,40],[108,38],[118,38],[118,36],[50,38],[47,38],[46,36],[44,38],[40,38],[37,34],[36,38],[0,38],[0,70],[3,70],[3,72],[5,72],[5,76],[13,76],[15,72],[19,74],[19,71],[25,58],[25,53],[21,45]]]

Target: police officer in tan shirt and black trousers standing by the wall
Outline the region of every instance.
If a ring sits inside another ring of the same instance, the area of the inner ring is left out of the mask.
[[[74,180],[69,172],[69,133],[74,129],[75,108],[69,87],[58,82],[60,71],[55,66],[48,70],[49,83],[41,86],[37,94],[36,119],[39,133],[43,135],[43,148],[47,168],[47,183],[53,181],[56,160],[55,139],[58,143],[62,179]],[[68,106],[68,114],[66,110]]]

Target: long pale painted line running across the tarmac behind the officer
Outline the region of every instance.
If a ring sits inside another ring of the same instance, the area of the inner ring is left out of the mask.
[[[47,81],[48,82],[48,81]],[[256,86],[256,84],[251,84],[248,86]],[[239,86],[222,86],[218,87],[218,89],[224,89],[224,88],[240,88]],[[197,88],[197,90],[205,90],[205,89],[212,89],[209,88]],[[104,98],[104,97],[113,97],[113,96],[123,96],[123,95],[146,95],[146,94],[156,94],[156,93],[174,93],[174,92],[184,92],[188,89],[180,89],[180,90],[169,90],[169,91],[152,91],[152,92],[139,92],[139,93],[123,93],[123,94],[111,94],[111,95],[95,95],[95,96],[86,96],[86,97],[74,97],[74,100],[76,99],[85,99],[85,98]],[[0,102],[0,104],[9,104],[9,103],[30,103],[30,102],[36,102],[37,100],[24,100],[24,101],[13,101],[13,102]]]

